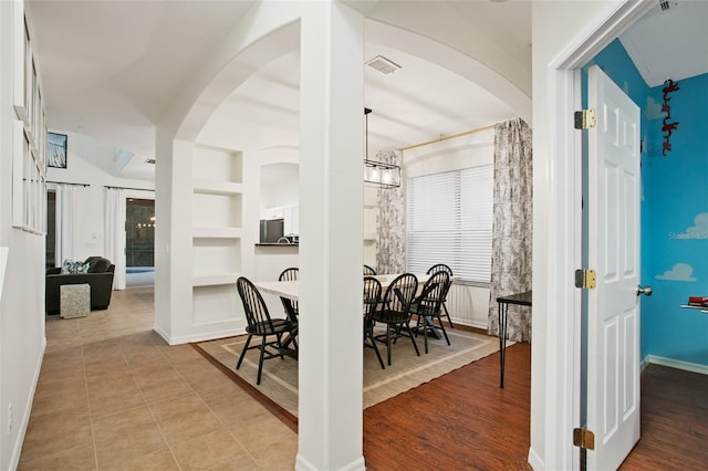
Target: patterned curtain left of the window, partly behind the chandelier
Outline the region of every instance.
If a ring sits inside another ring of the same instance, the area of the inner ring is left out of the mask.
[[[376,160],[402,165],[400,150],[378,151]],[[406,199],[403,186],[378,189],[378,273],[403,273],[406,271]]]

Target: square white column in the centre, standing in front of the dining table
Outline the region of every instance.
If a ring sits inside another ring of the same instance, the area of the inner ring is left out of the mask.
[[[363,17],[303,3],[295,469],[363,470]]]

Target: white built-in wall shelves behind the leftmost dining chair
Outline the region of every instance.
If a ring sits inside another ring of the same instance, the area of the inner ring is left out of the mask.
[[[191,237],[192,300],[196,324],[233,315],[241,275],[242,155],[195,145]]]

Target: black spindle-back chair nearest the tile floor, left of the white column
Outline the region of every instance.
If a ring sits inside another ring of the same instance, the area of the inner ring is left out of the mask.
[[[285,355],[295,359],[298,358],[298,341],[294,337],[298,324],[289,318],[272,318],[268,312],[263,296],[261,296],[261,293],[248,279],[243,276],[239,278],[236,281],[236,287],[243,303],[243,311],[246,312],[246,320],[248,322],[248,326],[246,327],[248,338],[239,356],[239,362],[236,364],[236,369],[241,367],[246,352],[258,348],[260,356],[258,359],[258,377],[256,384],[260,385],[264,359],[277,357],[282,359]],[[283,345],[284,334],[289,334],[287,338],[292,343],[293,348],[288,348]],[[253,336],[261,337],[261,342],[259,345],[250,346]]]

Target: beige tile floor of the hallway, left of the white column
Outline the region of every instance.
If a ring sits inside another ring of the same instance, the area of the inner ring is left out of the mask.
[[[46,320],[20,470],[292,470],[298,436],[190,345],[153,332],[153,286]]]

